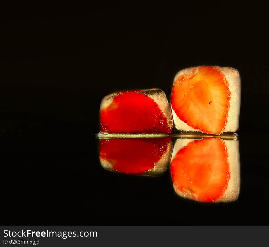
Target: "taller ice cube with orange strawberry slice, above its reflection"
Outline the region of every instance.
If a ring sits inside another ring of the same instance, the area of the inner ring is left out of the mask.
[[[237,131],[240,95],[240,75],[234,68],[198,66],[180,70],[171,93],[176,130],[208,134]]]

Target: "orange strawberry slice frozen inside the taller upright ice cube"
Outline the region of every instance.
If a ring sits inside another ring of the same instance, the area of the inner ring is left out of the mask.
[[[192,74],[179,76],[173,85],[171,106],[190,127],[221,134],[230,106],[225,76],[215,66],[197,67]]]

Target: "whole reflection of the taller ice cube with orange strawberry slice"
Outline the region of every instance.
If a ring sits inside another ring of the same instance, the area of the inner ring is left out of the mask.
[[[238,146],[238,140],[177,139],[170,162],[175,192],[200,202],[237,200],[240,187]]]

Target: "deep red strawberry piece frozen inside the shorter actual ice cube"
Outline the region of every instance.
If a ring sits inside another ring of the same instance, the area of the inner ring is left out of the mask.
[[[101,132],[109,133],[171,133],[167,117],[157,103],[140,91],[116,95],[100,111]]]

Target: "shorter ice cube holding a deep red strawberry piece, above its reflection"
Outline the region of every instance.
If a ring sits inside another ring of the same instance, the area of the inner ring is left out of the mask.
[[[173,120],[164,91],[153,88],[105,96],[100,127],[101,133],[171,133]]]

